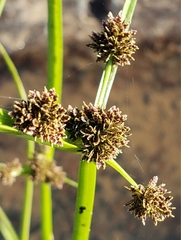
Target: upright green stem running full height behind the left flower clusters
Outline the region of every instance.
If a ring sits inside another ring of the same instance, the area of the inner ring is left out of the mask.
[[[47,87],[56,89],[61,99],[63,81],[63,28],[62,1],[48,0],[48,83]],[[52,161],[54,148],[49,148],[46,157]],[[43,240],[52,240],[52,195],[51,186],[41,184],[41,234]]]

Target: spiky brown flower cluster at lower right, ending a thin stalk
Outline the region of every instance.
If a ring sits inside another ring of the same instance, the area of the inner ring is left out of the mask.
[[[146,187],[139,184],[137,187],[126,187],[132,192],[133,199],[125,204],[129,206],[129,211],[134,213],[134,216],[138,219],[142,219],[143,225],[147,216],[153,219],[154,225],[158,222],[162,222],[166,217],[174,217],[172,210],[171,200],[172,196],[165,196],[170,194],[170,191],[165,189],[165,184],[156,185],[158,177],[155,176],[151,179]]]

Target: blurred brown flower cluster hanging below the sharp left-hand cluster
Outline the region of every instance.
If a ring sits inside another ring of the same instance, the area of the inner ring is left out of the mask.
[[[50,183],[59,189],[63,187],[66,173],[61,166],[57,166],[55,161],[50,161],[41,154],[35,154],[30,162],[32,179],[35,183]]]

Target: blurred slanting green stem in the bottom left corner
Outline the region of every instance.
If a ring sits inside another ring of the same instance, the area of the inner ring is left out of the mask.
[[[11,222],[0,207],[0,232],[5,240],[19,240]]]

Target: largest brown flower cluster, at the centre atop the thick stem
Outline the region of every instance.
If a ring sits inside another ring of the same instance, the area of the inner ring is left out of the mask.
[[[69,138],[81,149],[82,160],[94,161],[97,169],[105,169],[106,160],[116,158],[123,146],[128,147],[127,115],[115,106],[106,111],[84,103],[81,110],[69,106],[68,114],[65,128]]]

